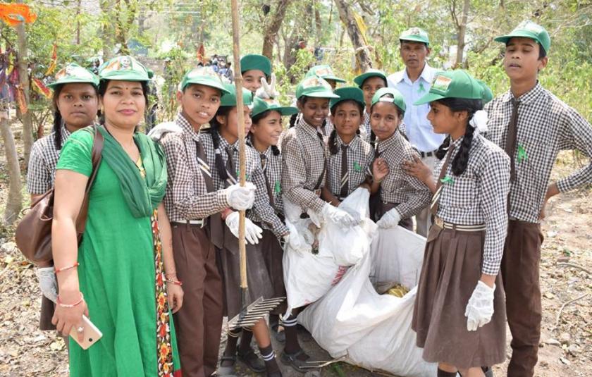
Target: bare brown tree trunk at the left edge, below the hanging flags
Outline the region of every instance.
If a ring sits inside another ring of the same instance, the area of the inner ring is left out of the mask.
[[[8,198],[6,209],[4,209],[4,223],[14,223],[20,209],[23,208],[23,194],[20,185],[20,166],[11,126],[8,124],[8,111],[0,109],[0,132],[4,141],[4,152],[6,152],[6,164],[8,165]]]

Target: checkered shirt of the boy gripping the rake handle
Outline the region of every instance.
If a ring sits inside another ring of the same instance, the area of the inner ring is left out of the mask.
[[[228,207],[226,192],[222,190],[207,192],[202,171],[197,164],[195,144],[203,142],[202,137],[193,130],[183,115],[178,114],[175,123],[183,129],[183,132],[169,132],[160,140],[166,154],[168,171],[164,195],[168,220],[180,223],[207,218]],[[206,154],[209,153],[206,151]],[[210,170],[212,170],[211,166],[213,165],[209,165]]]

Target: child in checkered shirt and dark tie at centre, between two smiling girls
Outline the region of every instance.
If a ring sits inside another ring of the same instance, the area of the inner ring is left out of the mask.
[[[341,87],[335,89],[335,94],[339,96],[331,99],[331,121],[335,128],[327,143],[327,185],[321,197],[339,206],[358,187],[371,190],[369,172],[374,149],[357,135],[364,111],[362,90]]]

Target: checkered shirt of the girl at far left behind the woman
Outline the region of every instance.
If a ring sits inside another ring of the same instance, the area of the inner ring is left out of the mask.
[[[70,137],[70,131],[66,125],[61,127],[61,144]],[[29,168],[27,169],[27,191],[30,194],[44,194],[51,187],[54,187],[56,178],[56,165],[60,151],[54,144],[54,132],[37,140],[32,148],[29,157]]]

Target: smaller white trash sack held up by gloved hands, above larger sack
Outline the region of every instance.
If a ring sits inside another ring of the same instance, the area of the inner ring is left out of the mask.
[[[323,222],[312,211],[302,218],[302,209],[287,198],[284,200],[286,225],[292,233],[306,240],[305,247],[286,246],[283,255],[284,283],[288,296],[288,313],[315,302],[339,283],[350,266],[358,264],[369,253],[376,224],[368,218],[369,192],[354,190],[341,204],[349,213],[359,214],[361,223],[342,228],[333,221]]]

